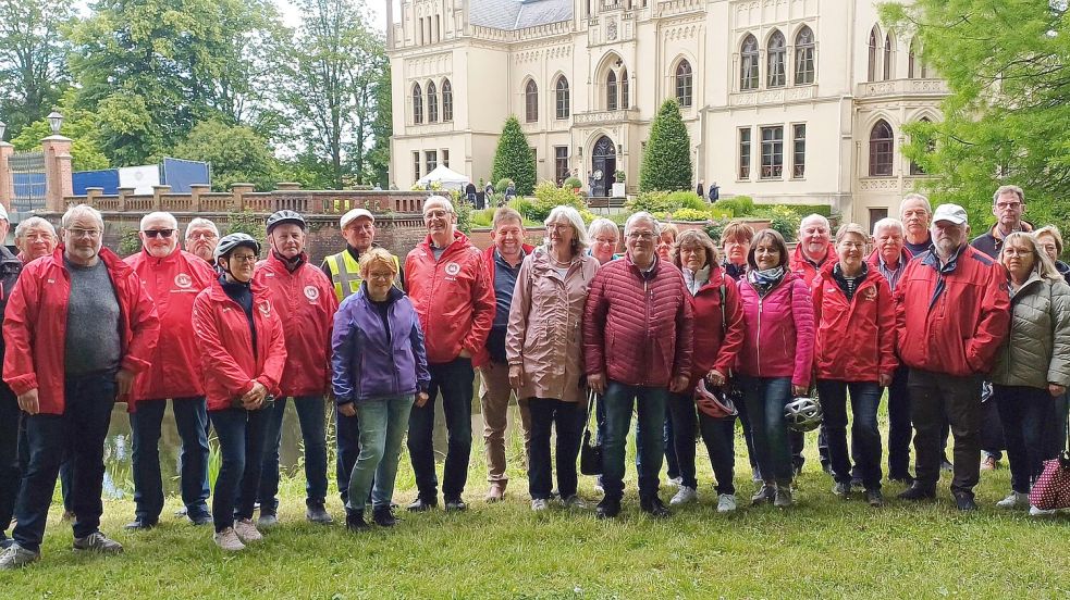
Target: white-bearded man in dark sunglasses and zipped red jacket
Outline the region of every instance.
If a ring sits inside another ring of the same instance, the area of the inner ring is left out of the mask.
[[[216,272],[198,257],[179,249],[179,222],[155,212],[142,218],[142,251],[126,259],[160,316],[160,339],[150,366],[134,384],[130,426],[134,451],[134,521],[127,529],[155,527],[163,511],[160,434],[171,399],[182,439],[182,502],[195,525],[212,522],[208,511],[208,410],[193,333],[193,301]]]

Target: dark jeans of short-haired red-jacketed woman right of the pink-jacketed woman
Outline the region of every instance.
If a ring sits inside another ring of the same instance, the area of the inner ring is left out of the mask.
[[[851,458],[847,453],[847,393],[851,396],[851,448],[859,467],[862,485],[868,490],[881,489],[881,430],[877,428],[877,408],[881,386],[876,382],[837,382],[817,379],[817,396],[825,413],[825,439],[828,459],[836,482],[851,483]]]

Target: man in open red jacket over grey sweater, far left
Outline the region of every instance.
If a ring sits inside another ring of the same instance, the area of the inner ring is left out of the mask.
[[[15,502],[15,543],[0,570],[40,557],[64,452],[73,461],[74,549],[123,547],[100,533],[104,438],[116,398],[149,366],[160,335],[156,307],[137,274],[107,248],[91,207],[63,215],[63,246],[25,266],[4,311],[3,378],[26,416],[29,461]]]

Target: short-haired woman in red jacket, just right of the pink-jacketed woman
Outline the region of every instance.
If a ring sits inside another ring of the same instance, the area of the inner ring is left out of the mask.
[[[817,324],[814,366],[817,395],[825,412],[825,439],[836,479],[833,493],[851,493],[851,460],[847,454],[847,392],[851,395],[851,446],[854,462],[872,507],[881,496],[881,432],[877,407],[882,389],[891,384],[896,312],[891,287],[877,268],[865,262],[869,236],[861,225],[848,223],[836,234],[838,262],[826,263],[813,282]]]

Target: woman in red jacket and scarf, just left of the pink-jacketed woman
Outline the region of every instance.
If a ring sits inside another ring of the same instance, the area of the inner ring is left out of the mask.
[[[685,392],[668,397],[668,414],[676,433],[673,442],[682,477],[680,489],[669,503],[684,504],[698,497],[694,473],[694,433],[698,429],[717,479],[717,512],[731,512],[736,510],[736,487],[733,485],[736,417],[712,418],[701,412],[696,415],[694,387],[703,377],[711,386],[724,386],[736,362],[736,354],[743,343],[739,290],[717,264],[713,240],[700,229],[680,234],[673,250],[673,263],[684,273],[684,282],[692,296],[694,333],[691,337],[691,379]]]

